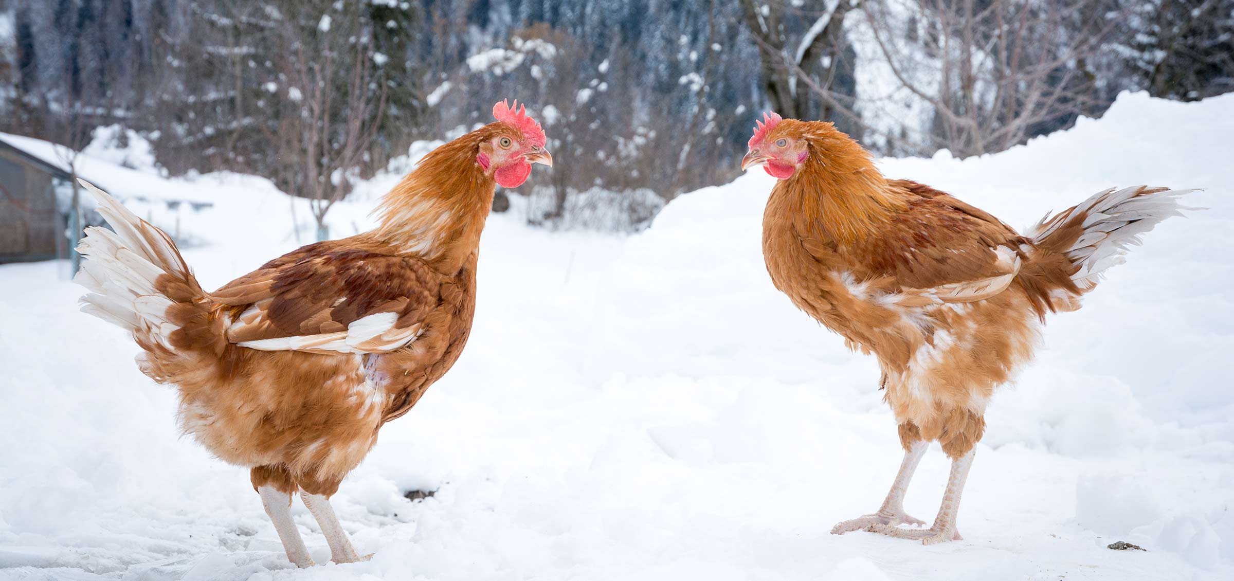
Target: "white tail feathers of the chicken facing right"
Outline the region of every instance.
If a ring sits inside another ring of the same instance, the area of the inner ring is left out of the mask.
[[[115,228],[86,228],[78,244],[88,259],[73,280],[90,290],[81,297],[81,311],[167,344],[178,328],[167,317],[174,302],[159,294],[155,281],[164,274],[189,278],[189,266],[167,233],[102,190],[78,181],[99,201],[99,213]]]

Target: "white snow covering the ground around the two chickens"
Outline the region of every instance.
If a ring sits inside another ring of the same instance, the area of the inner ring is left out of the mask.
[[[828,534],[877,508],[901,451],[874,361],[768,280],[761,171],[631,237],[494,216],[466,352],[334,497],[375,553],[342,566],[291,569],[247,470],[178,435],[173,391],[77,311],[63,265],[0,266],[0,577],[1234,579],[1230,134],[1234,95],[1124,95],[1002,154],[882,163],[1014,226],[1113,185],[1208,189],[1187,202],[1209,210],[1167,221],[1083,310],[1051,318],[991,406],[965,540],[935,546]],[[262,180],[169,187],[215,201],[179,210],[211,242],[185,252],[206,286],[297,245],[289,200]],[[370,205],[337,207],[332,231],[364,228]],[[933,517],[946,470],[935,447],[909,513]],[[316,523],[295,514],[325,562]]]

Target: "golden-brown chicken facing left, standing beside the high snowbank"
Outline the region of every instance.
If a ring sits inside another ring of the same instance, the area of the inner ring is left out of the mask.
[[[871,530],[960,539],[956,512],[985,432],[985,410],[1033,355],[1045,313],[1074,311],[1129,244],[1178,215],[1165,187],[1106,190],[1021,236],[942,191],[890,180],[832,123],[764,115],[742,169],[777,178],[763,216],[772,282],[802,311],[872,353],[905,459],[882,507],[833,534]],[[905,513],[903,497],[928,442],[951,458],[934,524]]]

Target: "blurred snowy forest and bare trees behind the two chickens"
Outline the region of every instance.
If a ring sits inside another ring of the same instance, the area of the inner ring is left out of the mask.
[[[1234,0],[0,0],[0,131],[120,125],[170,175],[328,207],[517,97],[558,162],[518,192],[545,226],[610,204],[637,227],[731,180],[764,109],[967,157],[1123,90],[1234,90]]]

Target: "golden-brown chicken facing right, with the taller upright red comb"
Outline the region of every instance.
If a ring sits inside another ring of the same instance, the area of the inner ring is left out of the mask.
[[[424,157],[378,207],[379,226],[279,257],[206,292],[172,239],[89,186],[115,232],[88,228],[81,310],[127,331],[141,370],[180,392],[186,434],[252,469],[297,566],[300,492],[331,559],[360,559],[329,496],[458,359],[475,312],[476,253],[496,184],[553,165],[539,123],[505,101],[496,122]]]

